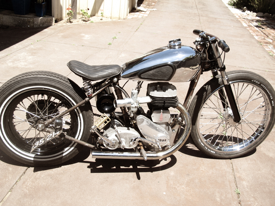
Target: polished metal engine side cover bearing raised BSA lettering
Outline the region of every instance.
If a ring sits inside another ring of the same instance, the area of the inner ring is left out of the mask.
[[[138,129],[146,139],[157,142],[160,146],[166,146],[169,143],[171,134],[162,126],[152,122],[149,118],[138,115],[136,117]]]

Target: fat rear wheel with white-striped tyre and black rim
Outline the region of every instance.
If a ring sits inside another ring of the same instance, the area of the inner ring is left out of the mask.
[[[82,146],[58,136],[30,151],[34,142],[47,135],[37,130],[39,121],[57,116],[85,97],[73,81],[53,72],[15,76],[0,88],[1,150],[32,166],[56,165],[73,158]],[[89,102],[63,116],[63,132],[82,141],[89,138],[92,124]]]

